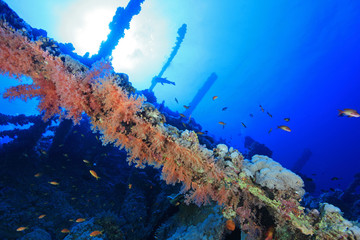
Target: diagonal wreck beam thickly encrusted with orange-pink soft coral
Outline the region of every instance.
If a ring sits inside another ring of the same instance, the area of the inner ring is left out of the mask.
[[[254,180],[257,170],[249,175],[237,150],[224,146],[206,149],[194,132],[180,132],[161,120],[154,121],[157,118],[153,109],[143,107],[144,98],[129,95],[120,87],[121,78],[107,61],[94,64],[86,72],[72,72],[61,58],[43,51],[41,42],[29,41],[2,22],[0,63],[0,73],[26,75],[33,80],[33,84],[8,89],[4,97],[39,98],[38,108],[44,113],[44,120],[59,115],[78,123],[86,113],[93,130],[102,133],[104,144],[113,143],[128,150],[129,163],[162,167],[162,177],[168,184],[183,183],[187,203],[200,206],[217,202],[223,207],[225,218],[240,223],[242,230],[256,238],[276,225],[278,239],[284,239],[284,229],[292,236],[288,239],[334,239],[327,238],[339,234],[329,229],[329,224],[334,224],[342,230],[342,236],[355,239],[355,230],[341,227],[344,220],[327,218],[325,226],[321,224],[322,216],[314,219],[313,215],[306,215],[299,203],[301,192],[287,192],[277,184],[263,185],[263,181]],[[149,109],[151,113],[147,112]]]

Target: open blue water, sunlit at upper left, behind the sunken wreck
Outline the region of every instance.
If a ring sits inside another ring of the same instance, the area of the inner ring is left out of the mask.
[[[45,11],[39,15],[24,5],[25,0],[5,2],[33,27],[44,28],[55,40],[65,39],[59,30],[62,16],[51,14],[56,5],[35,1]],[[62,3],[59,11],[71,9],[70,5],[71,1]],[[316,194],[346,189],[360,172],[360,118],[338,116],[338,109],[360,111],[360,2],[146,0],[133,21],[136,24],[124,39],[134,31],[139,39],[148,40],[146,48],[156,51],[149,55],[135,47],[129,53],[138,53],[129,57],[135,59],[133,68],[118,64],[121,52],[114,51],[113,59],[115,70],[127,73],[138,90],[150,87],[175,44],[177,29],[186,23],[184,42],[163,75],[176,85],[158,84],[154,88],[158,103],[164,101],[183,113],[183,105],[215,72],[218,79],[191,115],[210,136],[241,151],[246,151],[244,139],[250,136],[289,169],[304,149],[310,149],[312,156],[300,173],[313,179]],[[156,43],[160,39],[163,47]],[[0,92],[15,84],[16,80],[1,76]],[[212,100],[213,96],[218,98]],[[0,99],[0,104],[4,114],[37,113],[36,100]],[[278,129],[280,125],[292,131]],[[334,177],[338,180],[331,180]]]

